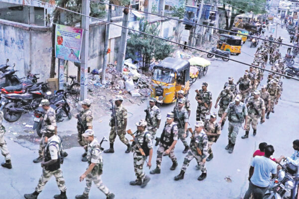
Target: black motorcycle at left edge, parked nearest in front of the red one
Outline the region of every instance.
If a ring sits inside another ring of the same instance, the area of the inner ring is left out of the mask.
[[[47,95],[51,95],[51,92],[47,91],[47,83],[42,83],[37,90],[24,94],[1,94],[0,109],[3,109],[4,119],[14,122],[21,117],[22,113],[35,110],[41,100]]]

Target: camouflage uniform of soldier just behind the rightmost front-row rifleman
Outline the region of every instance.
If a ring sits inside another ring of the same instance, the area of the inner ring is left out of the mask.
[[[209,119],[206,119],[204,121],[204,129],[206,130],[207,133],[214,133],[214,134],[216,133],[218,137],[221,134],[220,126],[218,125],[216,120],[214,122],[210,122]],[[208,136],[208,153],[209,154],[213,154],[212,145],[214,144],[214,142],[217,141],[218,137]]]

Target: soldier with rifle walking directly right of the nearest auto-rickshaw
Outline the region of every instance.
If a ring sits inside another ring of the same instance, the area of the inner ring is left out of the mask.
[[[205,116],[210,114],[212,108],[212,93],[207,91],[208,83],[203,82],[201,90],[196,92],[195,100],[197,101],[196,120],[205,120]]]

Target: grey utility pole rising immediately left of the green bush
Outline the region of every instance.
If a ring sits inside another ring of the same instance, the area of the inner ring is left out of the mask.
[[[126,11],[127,10],[127,11]],[[121,43],[120,43],[120,48],[117,56],[117,65],[116,65],[116,70],[119,72],[123,72],[123,61],[125,58],[126,54],[126,46],[127,46],[127,34],[128,34],[128,29],[125,27],[128,27],[129,24],[129,14],[130,11],[128,9],[124,9],[124,18],[123,18],[123,24],[122,26],[122,35],[121,35]]]

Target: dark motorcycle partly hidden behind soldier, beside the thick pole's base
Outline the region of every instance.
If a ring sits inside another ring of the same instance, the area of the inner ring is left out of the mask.
[[[72,118],[70,112],[71,108],[66,100],[66,95],[67,92],[64,92],[63,90],[58,90],[54,96],[48,97],[50,106],[55,110],[55,117],[57,122],[63,121],[63,117],[68,117],[68,119]],[[33,129],[36,129],[36,133],[39,137],[42,136],[42,133],[40,131],[43,127],[41,118],[44,117],[44,114],[45,112],[42,107],[38,107],[34,110]]]

